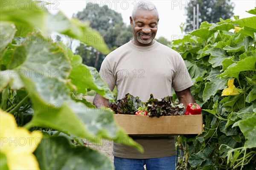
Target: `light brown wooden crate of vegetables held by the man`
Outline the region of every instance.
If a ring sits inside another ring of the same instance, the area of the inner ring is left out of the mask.
[[[116,123],[128,135],[185,135],[202,133],[201,115],[161,116],[114,115]]]

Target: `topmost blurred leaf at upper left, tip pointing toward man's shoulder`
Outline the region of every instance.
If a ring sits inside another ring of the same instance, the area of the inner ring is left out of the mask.
[[[8,2],[17,3],[15,0]],[[36,27],[45,35],[58,32],[80,40],[104,54],[110,52],[103,37],[99,32],[91,29],[88,23],[81,23],[74,18],[69,19],[62,12],[50,14],[42,1],[23,1],[22,3],[24,8],[9,7],[8,4],[1,7],[0,20],[15,23],[17,26],[24,26],[30,30]],[[42,8],[38,8],[36,3],[41,3]]]

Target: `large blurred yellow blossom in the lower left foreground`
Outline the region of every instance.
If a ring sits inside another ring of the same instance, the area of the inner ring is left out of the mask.
[[[0,152],[6,156],[9,170],[39,170],[33,152],[40,144],[42,133],[30,133],[17,127],[12,114],[0,111]]]

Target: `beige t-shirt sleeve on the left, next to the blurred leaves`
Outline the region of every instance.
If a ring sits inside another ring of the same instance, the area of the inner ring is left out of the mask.
[[[106,59],[102,62],[99,74],[105,83],[108,84],[108,88],[113,91],[114,87],[116,86],[116,80],[113,74],[113,69],[111,68],[111,64]]]

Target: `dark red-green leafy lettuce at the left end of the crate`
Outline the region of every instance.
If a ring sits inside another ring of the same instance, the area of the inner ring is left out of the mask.
[[[124,98],[117,100],[116,103],[111,103],[109,107],[113,109],[116,114],[134,115],[138,108],[144,107],[144,105],[139,97],[134,97],[127,93]]]

